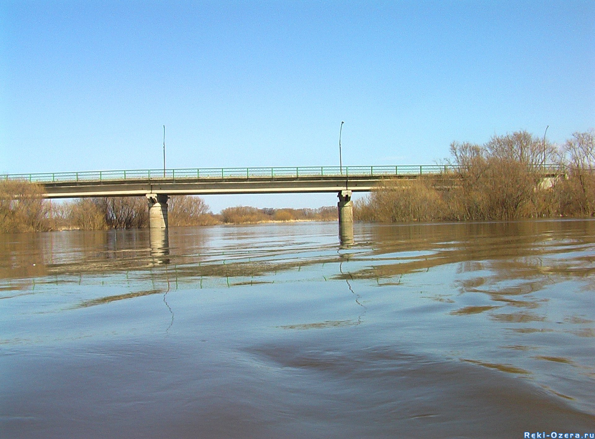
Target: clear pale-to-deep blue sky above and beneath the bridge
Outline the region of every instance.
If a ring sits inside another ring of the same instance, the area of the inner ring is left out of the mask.
[[[595,126],[595,2],[3,1],[0,173],[432,164]],[[331,205],[328,195],[208,197]]]

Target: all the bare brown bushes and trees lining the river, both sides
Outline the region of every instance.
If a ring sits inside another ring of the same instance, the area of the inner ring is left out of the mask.
[[[555,174],[544,178],[546,163]],[[595,215],[595,131],[574,133],[562,148],[527,131],[494,136],[484,145],[453,142],[444,174],[389,180],[355,202],[361,221],[515,220],[552,215]],[[452,165],[452,166],[450,166]],[[451,171],[447,171],[447,170]],[[148,226],[145,197],[50,202],[43,187],[0,181],[0,233],[57,228]],[[171,226],[265,221],[334,221],[336,206],[258,209],[236,206],[214,215],[200,197],[168,202]]]

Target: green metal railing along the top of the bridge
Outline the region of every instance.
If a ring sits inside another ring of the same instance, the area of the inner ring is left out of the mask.
[[[536,165],[544,174],[559,173],[558,165]],[[27,180],[35,183],[109,182],[109,181],[171,181],[246,178],[306,178],[306,177],[396,177],[399,175],[453,174],[457,165],[396,165],[396,166],[318,166],[277,168],[184,168],[168,170],[82,171],[71,173],[0,174],[0,180]]]

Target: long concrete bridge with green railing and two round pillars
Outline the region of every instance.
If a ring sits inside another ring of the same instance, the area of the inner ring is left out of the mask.
[[[560,172],[552,165],[538,169],[544,177]],[[337,192],[339,232],[348,242],[349,233],[353,236],[352,192],[368,192],[387,180],[415,180],[424,175],[456,178],[458,171],[456,165],[185,168],[0,174],[0,180],[38,183],[46,198],[146,196],[152,229],[167,228],[167,200],[173,195]]]

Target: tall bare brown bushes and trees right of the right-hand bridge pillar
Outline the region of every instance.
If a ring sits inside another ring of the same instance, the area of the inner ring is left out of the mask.
[[[513,220],[595,215],[595,131],[563,146],[527,131],[493,136],[484,145],[453,142],[449,174],[388,181],[355,203],[356,220]],[[562,173],[544,179],[545,164]],[[448,167],[447,167],[448,168]]]

